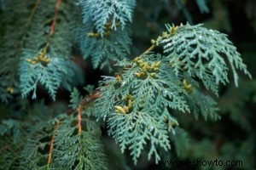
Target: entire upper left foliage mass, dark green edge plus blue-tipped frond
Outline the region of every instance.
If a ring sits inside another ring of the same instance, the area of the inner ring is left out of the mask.
[[[47,88],[52,99],[55,99],[56,89],[60,88],[61,82],[64,87],[71,89],[74,72],[79,73],[77,66],[69,59],[74,38],[69,24],[72,23],[76,6],[73,3],[61,3],[54,33],[49,35],[55,3],[55,0],[6,2],[1,15],[3,38],[0,40],[0,59],[3,60],[0,69],[0,98],[3,101],[8,101],[11,94],[17,94],[20,90],[23,96],[34,91],[32,98],[35,98],[38,82]],[[22,17],[17,20],[17,16]],[[51,63],[36,60],[43,49],[47,51],[45,59]]]

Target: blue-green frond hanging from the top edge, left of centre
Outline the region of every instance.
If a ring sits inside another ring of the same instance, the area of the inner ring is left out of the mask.
[[[132,20],[135,1],[79,0],[84,26],[78,31],[79,48],[84,59],[90,57],[94,68],[117,62],[130,53]]]

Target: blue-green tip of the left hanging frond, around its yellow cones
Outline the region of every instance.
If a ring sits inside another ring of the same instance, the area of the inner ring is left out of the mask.
[[[21,93],[25,97],[33,92],[32,99],[37,97],[36,89],[38,83],[41,83],[48,91],[52,99],[55,99],[55,93],[60,87],[62,77],[70,77],[73,75],[71,65],[67,63],[62,56],[57,55],[53,50],[44,56],[44,60],[33,62],[33,59],[39,60],[39,55],[44,52],[24,50],[20,61],[20,88]],[[49,57],[48,57],[49,56]],[[71,61],[69,61],[71,62]]]

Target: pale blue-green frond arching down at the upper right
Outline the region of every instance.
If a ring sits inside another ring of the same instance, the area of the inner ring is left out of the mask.
[[[189,24],[167,25],[166,29],[167,32],[164,32],[156,43],[164,46],[164,53],[170,59],[176,75],[180,71],[185,71],[189,77],[198,77],[214,94],[218,94],[216,85],[229,82],[229,65],[236,86],[238,85],[237,69],[250,77],[236,47],[223,33],[208,30],[201,25]]]

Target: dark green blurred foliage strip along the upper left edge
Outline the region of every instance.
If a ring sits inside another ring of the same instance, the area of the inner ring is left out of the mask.
[[[26,23],[30,15],[30,12],[24,10],[24,8],[26,8],[27,5],[31,5],[32,2],[19,1],[17,3],[10,3],[3,1],[3,3],[8,4],[5,5],[6,8],[4,8],[0,16],[0,99],[7,102],[11,94],[16,93],[16,89],[19,87],[18,65],[22,52],[23,37],[26,35],[27,27],[24,23]],[[17,10],[13,10],[14,8]],[[17,16],[24,17],[20,18],[20,20],[16,20]],[[9,37],[10,35],[11,37]],[[12,41],[9,41],[9,39],[12,39]]]

